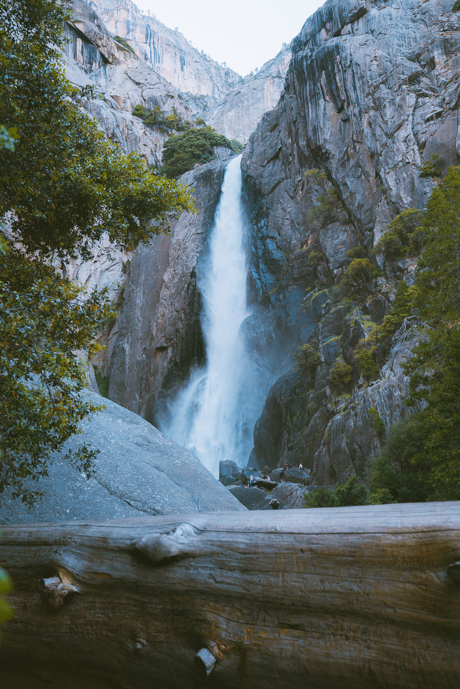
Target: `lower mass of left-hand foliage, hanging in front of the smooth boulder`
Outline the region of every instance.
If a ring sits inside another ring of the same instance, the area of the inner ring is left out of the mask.
[[[50,452],[99,409],[79,394],[86,371],[73,352],[99,349],[91,342],[109,302],[105,290],[82,300],[82,288],[18,249],[1,259],[0,275],[0,493],[10,486],[32,504],[39,493],[24,479],[48,475]],[[89,478],[95,454],[83,445],[66,457]]]

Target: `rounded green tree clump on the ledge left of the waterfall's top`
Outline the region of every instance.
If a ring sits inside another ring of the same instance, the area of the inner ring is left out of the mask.
[[[197,164],[208,163],[214,156],[214,146],[231,148],[228,138],[217,134],[212,127],[190,129],[179,136],[170,136],[163,147],[161,172],[174,178]]]

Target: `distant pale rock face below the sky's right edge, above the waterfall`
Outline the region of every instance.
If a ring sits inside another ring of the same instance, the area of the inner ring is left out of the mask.
[[[277,105],[291,55],[290,48],[283,48],[258,74],[239,83],[221,103],[205,110],[202,117],[206,123],[230,140],[246,143],[262,114]]]

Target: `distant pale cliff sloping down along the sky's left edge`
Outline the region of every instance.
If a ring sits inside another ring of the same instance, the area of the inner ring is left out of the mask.
[[[182,92],[217,103],[242,77],[202,56],[178,31],[141,14],[130,0],[92,0],[90,5],[112,35],[126,39],[141,62]]]

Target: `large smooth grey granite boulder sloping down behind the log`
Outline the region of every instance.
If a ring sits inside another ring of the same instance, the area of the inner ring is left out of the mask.
[[[191,452],[165,438],[137,414],[95,393],[105,409],[83,424],[65,450],[83,442],[99,449],[94,478],[54,456],[48,477],[34,487],[43,499],[29,510],[1,495],[0,523],[106,520],[139,515],[244,510]],[[63,456],[63,453],[61,453]]]

